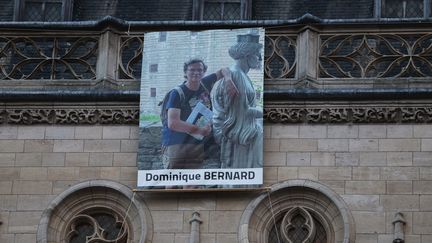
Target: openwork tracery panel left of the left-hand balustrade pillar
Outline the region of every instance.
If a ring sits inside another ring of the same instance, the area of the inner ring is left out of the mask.
[[[96,79],[98,44],[97,35],[1,36],[0,80]]]

